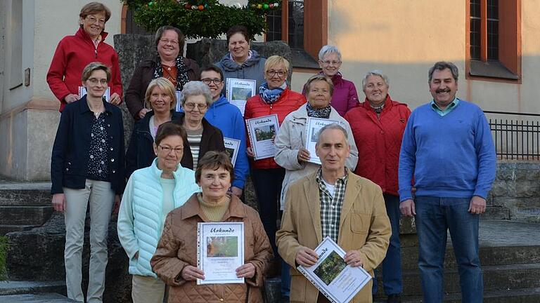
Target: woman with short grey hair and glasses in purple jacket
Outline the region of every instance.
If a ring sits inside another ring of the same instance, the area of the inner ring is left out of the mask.
[[[335,46],[326,45],[319,50],[319,66],[323,74],[330,78],[334,83],[334,93],[330,105],[338,111],[341,116],[358,105],[358,93],[354,83],[343,79],[340,73],[341,53]],[[306,95],[306,88],[302,91],[302,95]]]

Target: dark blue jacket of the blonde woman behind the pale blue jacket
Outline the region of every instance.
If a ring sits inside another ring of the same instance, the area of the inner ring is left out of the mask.
[[[180,118],[180,114],[172,112],[172,121]],[[154,115],[153,111],[146,113],[143,119],[136,121],[131,133],[131,140],[126,152],[126,179],[139,168],[146,168],[152,164],[155,159],[154,139],[150,134],[150,117]],[[189,145],[186,145],[189,147]]]

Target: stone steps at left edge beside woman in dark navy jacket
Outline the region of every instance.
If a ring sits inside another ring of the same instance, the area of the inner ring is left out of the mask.
[[[52,213],[50,182],[0,180],[0,236],[39,227]]]

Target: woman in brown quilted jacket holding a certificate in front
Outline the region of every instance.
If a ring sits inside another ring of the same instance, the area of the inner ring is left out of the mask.
[[[272,248],[257,211],[229,194],[234,168],[224,152],[207,152],[195,171],[202,192],[172,210],[158,249],[150,260],[155,274],[169,285],[169,303],[263,302],[264,274]],[[244,264],[236,269],[245,283],[197,285],[205,273],[197,268],[198,222],[244,222]]]

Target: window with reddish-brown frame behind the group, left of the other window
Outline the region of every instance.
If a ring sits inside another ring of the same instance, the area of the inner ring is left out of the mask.
[[[266,41],[283,40],[293,53],[293,66],[319,69],[319,50],[327,43],[328,3],[323,0],[283,0],[266,17]],[[309,27],[304,27],[309,24]]]

